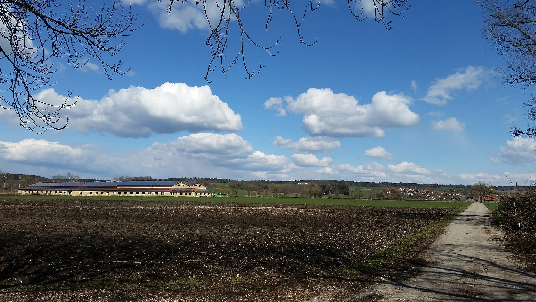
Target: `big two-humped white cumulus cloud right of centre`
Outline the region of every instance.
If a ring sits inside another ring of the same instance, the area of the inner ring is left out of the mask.
[[[309,88],[296,99],[286,97],[285,101],[287,110],[303,114],[302,128],[314,136],[384,136],[384,129],[418,125],[420,121],[419,114],[408,107],[411,98],[385,91],[364,105],[329,88]]]

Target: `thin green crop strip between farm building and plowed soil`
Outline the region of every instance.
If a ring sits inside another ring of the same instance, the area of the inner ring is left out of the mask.
[[[252,203],[252,204],[310,204],[310,205],[349,205],[349,206],[396,206],[396,207],[460,207],[470,202],[431,202],[421,200],[357,200],[329,198],[286,198],[286,197],[90,197],[90,196],[51,196],[51,195],[4,195],[0,199],[41,199],[41,200],[159,200],[221,202],[221,203]]]

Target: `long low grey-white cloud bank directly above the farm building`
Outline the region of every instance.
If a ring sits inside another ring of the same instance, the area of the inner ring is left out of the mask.
[[[94,146],[72,147],[46,140],[0,141],[0,159],[35,167],[69,169],[110,175],[208,174],[250,175],[264,172],[267,177],[291,172],[284,155],[254,151],[236,134],[194,133],[169,142],[154,142],[146,149],[102,154]],[[133,164],[135,163],[135,164]],[[242,172],[239,172],[242,171]],[[177,174],[175,174],[177,173]]]

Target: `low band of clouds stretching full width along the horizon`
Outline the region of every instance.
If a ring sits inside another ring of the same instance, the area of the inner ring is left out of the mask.
[[[377,162],[358,166],[348,163],[332,166],[331,157],[318,159],[312,154],[294,154],[294,163],[289,163],[284,155],[265,154],[255,150],[251,143],[236,134],[195,133],[165,143],[154,142],[145,149],[126,152],[104,149],[35,139],[0,141],[0,164],[4,167],[6,163],[10,163],[11,167],[25,167],[25,171],[36,175],[39,175],[39,171],[49,171],[50,175],[54,175],[69,170],[80,176],[95,175],[98,178],[152,175],[158,178],[203,176],[292,180],[338,175],[338,179],[348,181],[444,184],[489,181],[494,185],[508,185],[507,176],[519,183],[533,178],[532,174],[508,171],[501,174],[477,172],[449,175],[442,170],[420,167],[408,161],[387,166]],[[319,169],[308,169],[311,167]]]

